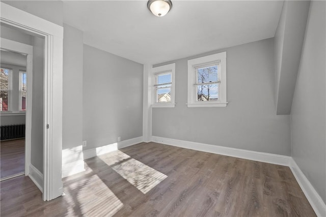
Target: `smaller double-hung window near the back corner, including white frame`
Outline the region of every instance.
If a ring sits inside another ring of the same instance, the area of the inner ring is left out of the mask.
[[[152,76],[152,107],[174,107],[175,64],[152,68]]]

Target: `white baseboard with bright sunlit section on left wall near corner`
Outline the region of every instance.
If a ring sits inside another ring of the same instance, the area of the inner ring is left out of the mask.
[[[97,148],[91,148],[91,149],[87,149],[84,150],[84,160],[85,159],[89,159],[89,158],[93,158],[95,156],[99,156],[101,154],[104,153],[108,153],[111,151],[115,151],[118,150],[120,148],[124,148],[124,147],[128,147],[130,145],[134,145],[137,143],[143,142],[143,137],[137,137],[137,138],[133,138],[133,139],[127,139],[127,140],[123,140],[121,142],[115,142],[112,144],[108,144],[108,145],[103,145],[101,147],[97,147]]]

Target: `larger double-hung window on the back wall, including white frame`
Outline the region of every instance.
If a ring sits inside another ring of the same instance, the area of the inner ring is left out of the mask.
[[[188,107],[225,107],[226,52],[188,60]]]

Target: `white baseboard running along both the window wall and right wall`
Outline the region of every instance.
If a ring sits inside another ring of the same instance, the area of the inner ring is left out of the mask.
[[[178,139],[169,139],[163,137],[152,136],[151,141],[162,143],[166,145],[172,145],[181,148],[188,148],[198,151],[205,151],[209,153],[222,154],[225,156],[243,158],[253,161],[260,161],[270,164],[277,164],[282,166],[288,166],[296,181],[300,185],[302,191],[306,195],[309,203],[316,212],[317,216],[326,216],[326,205],[318,195],[312,184],[309,182],[304,173],[296,165],[292,157],[283,156],[279,154],[264,153],[258,151],[250,151],[238,148],[223,147],[218,145],[210,145],[198,142],[190,142]]]

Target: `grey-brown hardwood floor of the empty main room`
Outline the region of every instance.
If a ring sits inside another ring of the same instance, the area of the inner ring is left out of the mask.
[[[87,159],[42,201],[28,177],[1,182],[1,216],[316,216],[290,169],[140,143]]]

